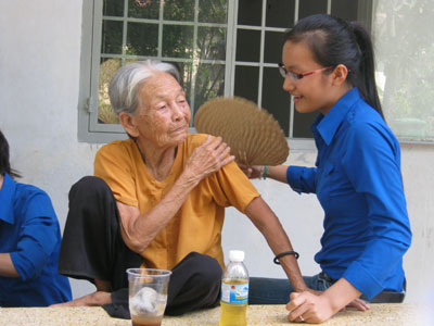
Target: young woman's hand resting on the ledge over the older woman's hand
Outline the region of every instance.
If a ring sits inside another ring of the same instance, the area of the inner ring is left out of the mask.
[[[333,314],[333,309],[323,296],[317,296],[309,291],[293,292],[291,301],[286,304],[290,311],[288,319],[290,322],[306,322],[319,324],[329,319]]]

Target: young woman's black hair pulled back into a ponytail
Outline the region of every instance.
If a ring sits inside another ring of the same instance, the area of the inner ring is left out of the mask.
[[[345,65],[347,82],[384,118],[376,91],[372,41],[362,25],[348,24],[329,14],[311,15],[299,20],[286,33],[285,41],[304,41],[322,66]]]

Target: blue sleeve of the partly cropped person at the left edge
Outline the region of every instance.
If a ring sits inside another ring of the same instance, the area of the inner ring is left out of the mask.
[[[23,224],[12,263],[23,280],[37,277],[60,241],[60,228],[51,200],[43,191],[34,192],[22,206]]]

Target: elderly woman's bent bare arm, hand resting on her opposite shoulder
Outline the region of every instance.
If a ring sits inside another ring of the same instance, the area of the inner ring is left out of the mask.
[[[234,160],[220,137],[210,136],[190,155],[186,167],[166,196],[149,212],[117,202],[122,236],[135,252],[142,253],[179,211],[191,190],[205,177]]]

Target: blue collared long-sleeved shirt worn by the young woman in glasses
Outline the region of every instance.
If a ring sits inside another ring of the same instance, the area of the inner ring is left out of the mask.
[[[317,193],[324,210],[316,262],[368,299],[384,289],[401,291],[411,231],[399,142],[357,88],[320,114],[311,130],[316,167],[290,166],[286,178],[295,191]]]

